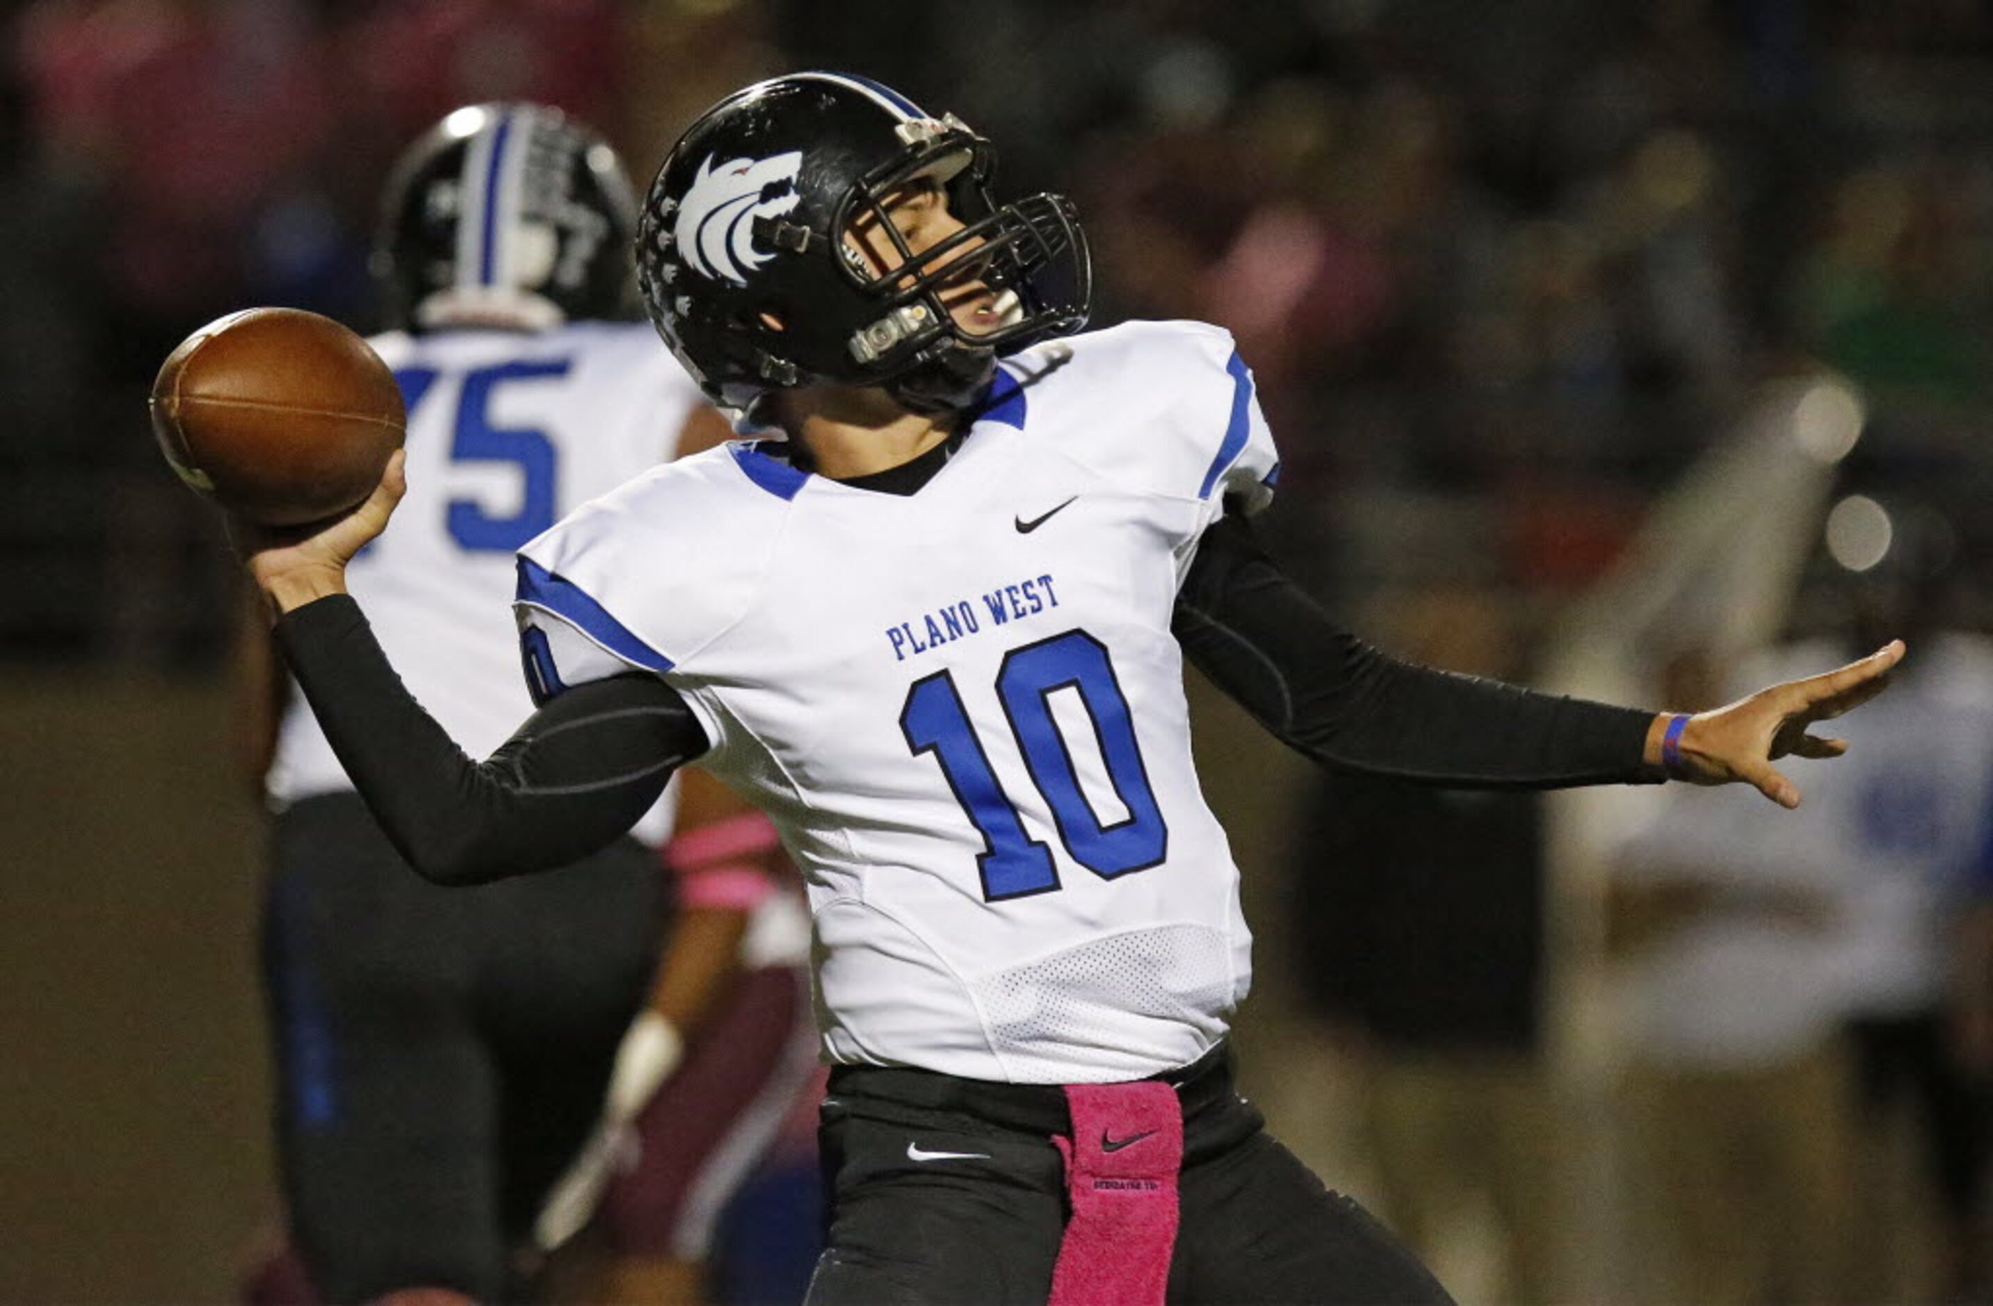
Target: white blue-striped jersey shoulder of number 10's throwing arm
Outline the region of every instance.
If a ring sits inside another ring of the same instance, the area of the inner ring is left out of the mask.
[[[552,614],[654,672],[696,658],[761,592],[787,500],[721,445],[582,504],[518,552],[520,620]]]

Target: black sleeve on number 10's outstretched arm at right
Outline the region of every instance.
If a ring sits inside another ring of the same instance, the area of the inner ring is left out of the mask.
[[[1337,626],[1242,516],[1204,532],[1172,630],[1278,740],[1325,766],[1473,790],[1658,782],[1652,712],[1399,662]]]

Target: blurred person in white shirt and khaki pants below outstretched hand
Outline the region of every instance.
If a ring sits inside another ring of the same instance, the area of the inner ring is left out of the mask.
[[[1692,706],[1724,690],[1700,652],[1660,688]],[[1822,802],[1810,794],[1804,816]],[[1830,981],[1842,921],[1820,867],[1778,855],[1792,837],[1756,835],[1752,816],[1670,794],[1612,859],[1618,1125],[1652,1306],[1836,1300],[1851,1268],[1851,1075]]]

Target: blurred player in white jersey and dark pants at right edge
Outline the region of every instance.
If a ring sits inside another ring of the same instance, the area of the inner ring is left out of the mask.
[[[1993,1097],[1959,1023],[1967,995],[1953,985],[1993,831],[1993,640],[1961,628],[1959,548],[1931,502],[1844,496],[1826,528],[1838,620],[1812,644],[1846,648],[1887,622],[1933,654],[1901,682],[1903,702],[1861,722],[1867,756],[1832,790],[1846,794],[1840,859],[1822,867],[1850,919],[1842,977],[1861,1206],[1848,1282],[1875,1298],[1993,1300],[1983,1224]]]

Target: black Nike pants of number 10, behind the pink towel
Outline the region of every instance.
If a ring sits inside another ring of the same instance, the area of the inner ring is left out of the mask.
[[[1164,1077],[1184,1105],[1172,1306],[1451,1306],[1355,1200],[1232,1091],[1226,1049]],[[839,1069],[823,1105],[829,1246],[809,1306],[1042,1306],[1066,1222],[1058,1089]]]

